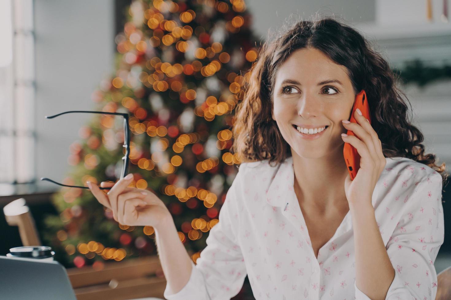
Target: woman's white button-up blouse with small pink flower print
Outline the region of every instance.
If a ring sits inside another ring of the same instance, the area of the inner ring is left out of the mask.
[[[386,299],[435,299],[434,261],[445,236],[442,177],[409,158],[386,160],[372,197],[395,269]],[[247,274],[257,300],[369,300],[355,285],[350,211],[317,259],[293,186],[292,157],[276,166],[242,163],[188,283],[172,295],[166,285],[164,297],[230,299]]]

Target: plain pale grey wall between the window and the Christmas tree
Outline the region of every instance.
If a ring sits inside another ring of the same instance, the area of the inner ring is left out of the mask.
[[[64,179],[69,146],[92,116],[69,110],[94,110],[91,94],[113,70],[113,0],[35,0],[36,29],[36,174],[39,181]]]

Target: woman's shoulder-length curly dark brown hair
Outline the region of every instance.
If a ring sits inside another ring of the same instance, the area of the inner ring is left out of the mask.
[[[372,126],[382,142],[384,157],[407,157],[425,164],[442,175],[443,186],[449,174],[445,163],[435,164],[434,154],[424,154],[423,134],[408,118],[405,94],[396,86],[399,77],[387,60],[374,51],[355,29],[335,17],[296,22],[282,30],[274,41],[265,41],[249,70],[244,98],[238,103],[232,122],[230,149],[241,162],[285,161],[290,145],[272,120],[273,89],[278,68],[298,49],[315,48],[333,62],[347,68],[354,94],[365,90]]]

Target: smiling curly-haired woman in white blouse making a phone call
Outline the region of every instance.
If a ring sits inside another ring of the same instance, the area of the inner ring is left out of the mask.
[[[360,90],[372,124],[359,112],[342,122]],[[445,168],[406,113],[388,63],[357,31],[301,21],[251,69],[233,128],[243,162],[197,264],[155,195],[122,179],[92,192],[121,224],[154,226],[169,300],[230,299],[246,274],[256,299],[434,299]],[[361,157],[352,181],[344,143]]]

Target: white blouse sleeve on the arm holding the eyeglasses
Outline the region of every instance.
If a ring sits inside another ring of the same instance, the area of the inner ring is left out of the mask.
[[[210,229],[207,246],[201,251],[188,283],[170,295],[168,286],[163,296],[167,300],[224,300],[234,297],[243,287],[246,267],[237,241],[239,201],[241,197],[243,164],[226,194],[219,212],[219,222]]]

